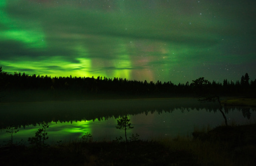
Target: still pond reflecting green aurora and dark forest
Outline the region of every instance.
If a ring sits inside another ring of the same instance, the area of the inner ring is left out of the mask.
[[[255,109],[230,107],[223,111],[229,125],[256,122]],[[43,123],[49,125],[48,144],[77,141],[87,132],[93,141],[112,141],[124,138],[124,131],[116,129],[117,118],[124,115],[134,127],[128,130],[128,137],[137,133],[142,140],[191,136],[194,128],[225,124],[218,103],[202,103],[195,98],[0,103],[0,144],[10,140],[6,132],[10,125],[19,130],[13,133],[13,141],[23,139],[27,144],[28,137],[34,137]]]

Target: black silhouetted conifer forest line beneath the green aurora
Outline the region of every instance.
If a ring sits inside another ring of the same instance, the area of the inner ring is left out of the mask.
[[[27,75],[25,73],[8,74],[0,68],[0,90],[68,90],[81,93],[118,93],[118,94],[158,94],[165,96],[172,95],[239,95],[256,97],[256,80],[250,81],[248,73],[241,77],[241,81],[228,81],[223,83],[209,82],[204,77],[193,80],[192,83],[174,84],[171,81],[144,82],[127,80],[123,78],[102,78],[102,77],[51,77]]]

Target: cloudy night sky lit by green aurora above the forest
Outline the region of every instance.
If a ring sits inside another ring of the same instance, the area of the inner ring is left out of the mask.
[[[0,0],[7,73],[256,79],[256,0]]]

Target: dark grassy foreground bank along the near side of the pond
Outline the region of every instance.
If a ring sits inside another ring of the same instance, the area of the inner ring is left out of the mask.
[[[158,141],[1,147],[0,166],[256,166],[256,125]]]

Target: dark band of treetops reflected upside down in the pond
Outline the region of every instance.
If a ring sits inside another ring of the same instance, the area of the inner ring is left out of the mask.
[[[164,112],[172,113],[174,110],[180,110],[181,112],[185,111],[194,111],[194,110],[202,110],[205,109],[209,112],[217,112],[221,111],[222,114],[225,116],[225,113],[229,113],[230,111],[234,111],[234,109],[238,111],[242,111],[244,117],[247,119],[251,118],[251,111],[255,111],[253,108],[238,108],[238,107],[224,107],[220,108],[218,103],[201,103],[198,102],[196,99],[192,100],[191,102],[186,102],[185,100],[158,100],[160,104],[155,101],[142,101],[142,100],[134,100],[131,102],[130,100],[121,101],[121,106],[112,106],[111,104],[115,103],[107,103],[107,107],[99,107],[97,105],[95,108],[83,108],[81,109],[49,109],[43,111],[37,110],[22,110],[22,111],[15,111],[15,110],[4,110],[1,109],[1,116],[0,116],[0,128],[4,129],[9,127],[10,125],[14,127],[25,127],[28,125],[34,125],[51,122],[70,122],[73,121],[90,121],[96,120],[99,121],[107,120],[111,117],[118,118],[120,116],[125,115],[137,115],[145,113],[148,115],[150,112],[154,114],[157,112],[158,114],[162,114]],[[119,101],[120,102],[120,101]],[[132,105],[132,103],[136,103],[137,105]],[[189,103],[189,104],[188,104]],[[164,106],[163,106],[164,105]],[[224,113],[225,112],[225,113]],[[226,118],[227,119],[227,118]],[[225,120],[226,121],[226,120]]]

